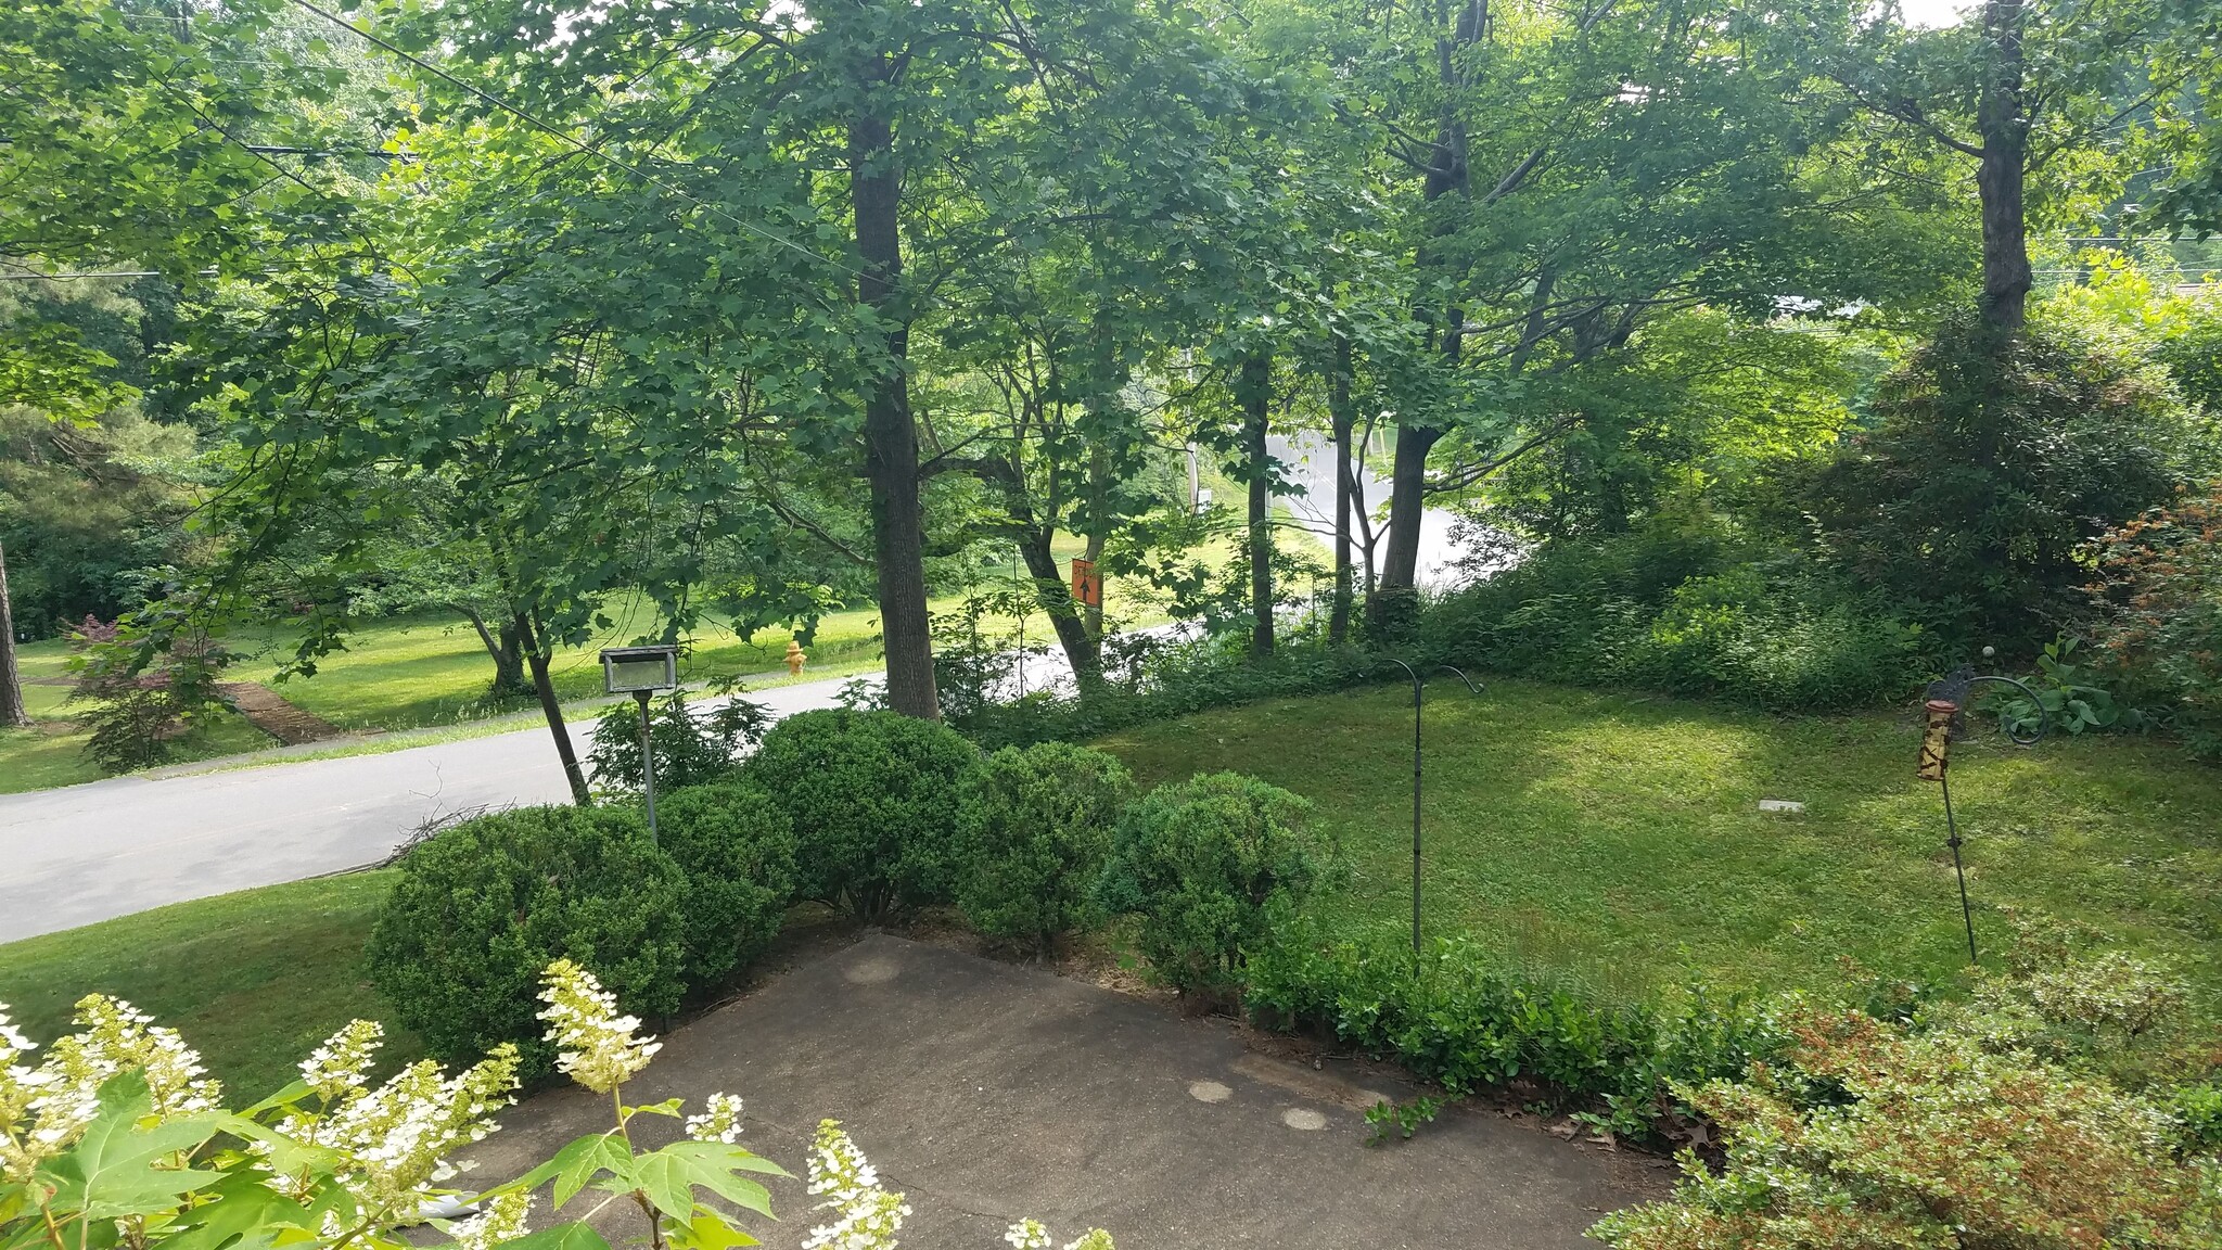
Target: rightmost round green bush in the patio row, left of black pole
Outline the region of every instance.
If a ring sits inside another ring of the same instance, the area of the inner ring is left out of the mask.
[[[1164,983],[1227,994],[1244,950],[1320,879],[1309,814],[1307,798],[1238,772],[1160,785],[1120,821],[1098,901],[1140,916],[1138,945]]]

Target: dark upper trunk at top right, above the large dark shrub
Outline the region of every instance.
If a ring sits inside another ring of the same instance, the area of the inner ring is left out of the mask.
[[[1982,200],[1982,320],[2013,334],[2022,329],[2029,302],[2029,222],[2022,182],[2029,173],[2029,102],[2022,98],[2022,0],[1989,0],[1982,7],[1989,44],[1975,129],[1982,133],[1982,165],[1975,194]]]

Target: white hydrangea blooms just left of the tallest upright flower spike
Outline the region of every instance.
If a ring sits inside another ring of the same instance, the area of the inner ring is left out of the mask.
[[[456,1077],[424,1059],[373,1090],[364,1074],[380,1039],[382,1030],[369,1021],[331,1034],[300,1065],[324,1097],[322,1110],[293,1112],[280,1130],[340,1152],[338,1179],[364,1210],[413,1210],[456,1174],[447,1161],[451,1150],[496,1130],[493,1112],[507,1108],[518,1088],[518,1048],[502,1043]]]

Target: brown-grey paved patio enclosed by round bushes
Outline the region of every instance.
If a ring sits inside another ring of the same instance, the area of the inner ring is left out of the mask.
[[[820,1117],[909,1194],[915,1250],[995,1250],[1024,1217],[1060,1246],[1109,1228],[1122,1250],[1571,1250],[1595,1246],[1582,1230],[1602,1210],[1664,1185],[1655,1161],[1462,1108],[1367,1148],[1364,1108],[1411,1090],[1251,1052],[1227,1021],[880,934],[673,1032],[627,1101],[695,1108],[715,1090],[747,1099],[742,1143],[798,1174],[771,1185],[775,1226],[747,1223],[773,1248],[811,1228],[800,1174]],[[473,1181],[607,1114],[584,1090],[536,1097],[476,1150]],[[638,1232],[627,1219],[613,1241]]]

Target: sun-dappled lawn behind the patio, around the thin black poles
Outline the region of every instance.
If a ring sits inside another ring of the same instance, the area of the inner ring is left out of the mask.
[[[1609,994],[1686,970],[1751,988],[1951,979],[1966,963],[1933,783],[1893,714],[1775,718],[1491,681],[1429,687],[1424,912]],[[1378,687],[1149,725],[1104,750],[1147,781],[1253,772],[1320,807],[1351,923],[1411,923],[1411,694]],[[1806,803],[1762,816],[1760,798]],[[2222,1016],[2222,772],[2171,743],[1995,736],[1953,747],[1984,950],[2000,907],[2089,921],[2169,959]]]

